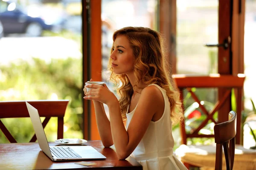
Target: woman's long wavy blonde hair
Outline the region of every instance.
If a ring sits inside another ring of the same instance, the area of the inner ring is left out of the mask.
[[[136,77],[135,86],[140,81],[144,82],[144,87],[150,84],[157,84],[166,90],[171,108],[171,119],[174,124],[180,122],[183,118],[180,93],[174,88],[172,76],[168,63],[166,62],[163,37],[157,31],[144,27],[125,27],[114,32],[113,42],[119,35],[125,35],[133,50],[135,57],[134,75]],[[111,54],[113,48],[111,50]],[[131,96],[134,88],[131,85],[126,74],[115,74],[111,67],[112,59],[109,59],[108,71],[110,71],[110,81],[115,84],[117,94],[119,94],[119,104],[122,119],[126,119],[128,105],[131,102]]]

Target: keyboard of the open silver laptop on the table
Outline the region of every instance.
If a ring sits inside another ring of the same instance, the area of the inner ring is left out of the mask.
[[[70,147],[50,147],[50,150],[52,156],[57,158],[81,158],[81,156]]]

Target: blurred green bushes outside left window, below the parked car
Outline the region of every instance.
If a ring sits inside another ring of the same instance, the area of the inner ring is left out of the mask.
[[[64,138],[82,138],[81,59],[20,59],[0,65],[0,101],[69,99],[64,117]],[[44,119],[44,118],[43,118]],[[29,142],[34,134],[30,118],[1,119],[17,142]],[[57,139],[57,118],[45,127],[48,141]],[[0,143],[8,142],[0,131]]]

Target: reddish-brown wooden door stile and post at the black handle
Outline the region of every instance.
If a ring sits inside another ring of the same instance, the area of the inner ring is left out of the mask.
[[[224,49],[218,48],[218,73],[224,74],[239,74],[244,73],[244,3],[245,0],[223,0],[219,1],[219,35],[218,42],[223,43],[225,39],[229,42],[229,47]],[[225,89],[220,88],[218,97],[223,97]],[[241,93],[235,90],[236,99],[240,100]],[[243,109],[241,106],[236,108]],[[219,111],[218,121],[224,122],[228,119],[228,114],[231,111],[231,95]],[[237,125],[241,125],[241,117],[237,118]],[[239,128],[240,130],[240,128]],[[241,132],[241,136],[242,136]],[[242,144],[240,139],[236,143]]]

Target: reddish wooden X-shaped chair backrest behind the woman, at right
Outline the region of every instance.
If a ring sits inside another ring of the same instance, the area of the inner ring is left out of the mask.
[[[195,100],[195,102],[198,103],[199,108],[204,113],[204,115],[207,116],[206,119],[201,122],[201,124],[195,129],[190,131],[190,133],[186,133],[186,126],[185,126],[185,120],[183,119],[181,121],[180,130],[181,130],[181,137],[182,137],[182,144],[187,144],[187,138],[213,138],[214,134],[198,134],[199,130],[204,128],[209,121],[214,122],[215,124],[219,123],[216,122],[215,119],[213,119],[213,115],[215,112],[218,111],[218,114],[225,114],[223,112],[220,113],[220,108],[223,108],[222,106],[228,99],[228,97],[231,94],[232,89],[235,89],[236,93],[236,113],[237,113],[237,122],[238,126],[236,127],[237,135],[236,135],[236,143],[241,144],[242,138],[241,138],[241,111],[242,111],[242,90],[244,87],[244,74],[238,74],[238,75],[207,75],[207,76],[191,76],[191,75],[184,75],[184,74],[177,74],[172,75],[172,78],[174,79],[175,85],[177,86],[178,90],[180,91],[180,100],[183,103],[183,91],[187,90],[192,98]],[[207,111],[207,109],[204,107],[204,105],[201,104],[201,101],[199,100],[198,96],[192,91],[192,88],[224,88],[226,91],[224,92],[224,97],[218,100],[214,108],[212,108],[211,111]],[[184,109],[184,105],[183,105]],[[225,114],[227,119],[224,119],[224,121],[228,120],[227,114]],[[223,121],[223,122],[224,122]]]

